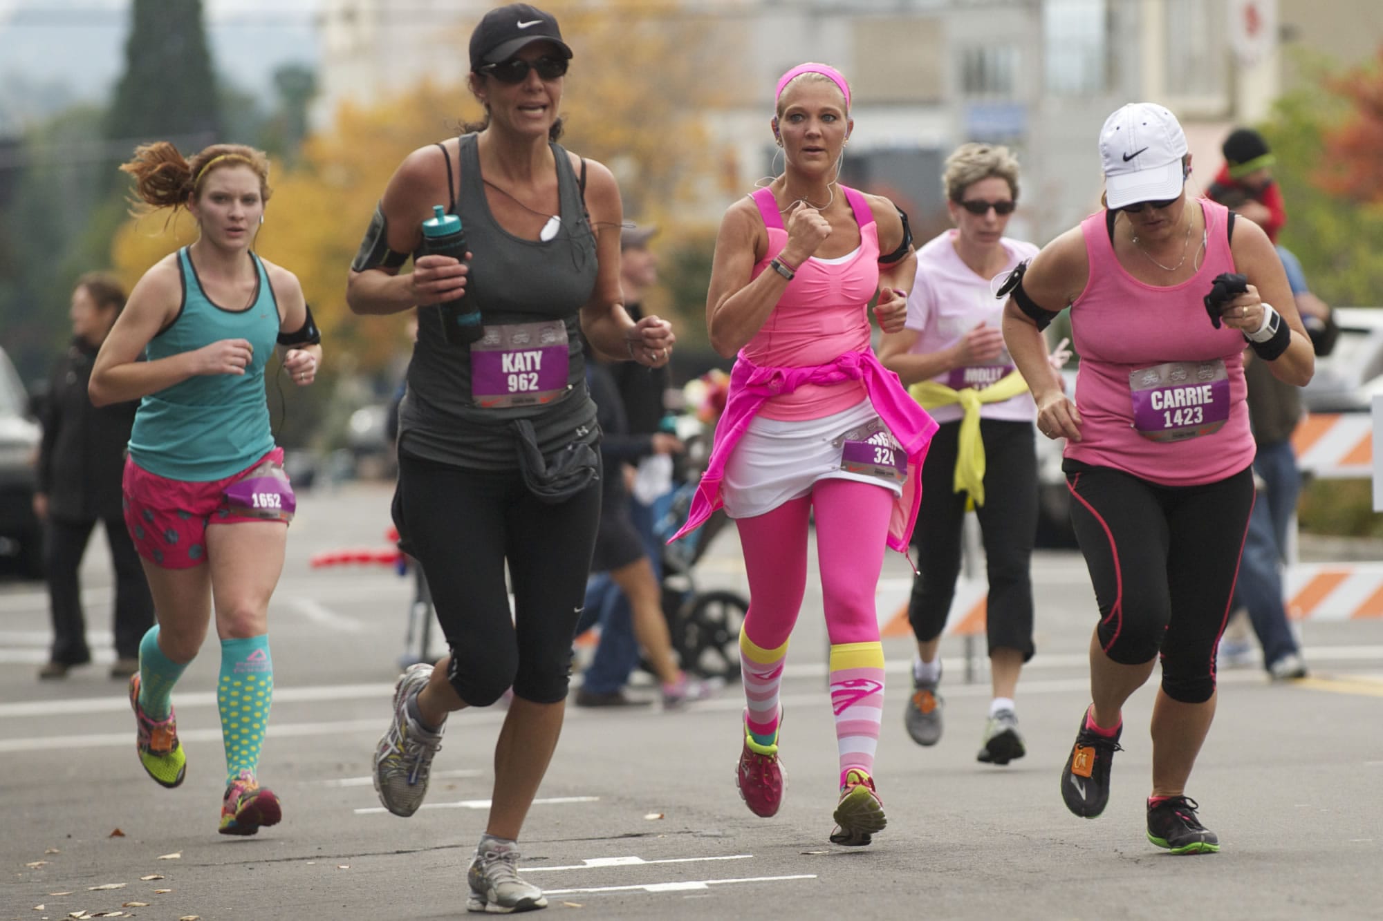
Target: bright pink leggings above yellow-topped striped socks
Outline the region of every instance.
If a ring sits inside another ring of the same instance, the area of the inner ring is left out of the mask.
[[[878,642],[874,593],[893,495],[869,483],[828,478],[772,512],[736,519],[750,579],[743,631],[761,649],[783,646],[797,624],[806,592],[808,513],[813,506],[831,644]]]

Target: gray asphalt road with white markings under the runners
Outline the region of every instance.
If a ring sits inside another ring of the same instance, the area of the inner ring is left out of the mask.
[[[216,834],[224,762],[214,642],[174,696],[189,761],[187,783],[167,791],[140,769],[124,686],[105,675],[100,539],[83,585],[101,655],[64,682],[35,678],[47,642],[41,586],[0,584],[0,921],[465,914],[465,867],[503,711],[452,718],[425,808],[408,820],[384,813],[369,758],[389,720],[411,585],[382,566],[308,567],[328,549],[384,549],[387,505],[383,485],[301,496],[271,607],[275,703],[260,770],[285,819],[254,838]],[[907,573],[889,555],[885,614]],[[703,589],[743,590],[733,532],[698,577]],[[929,750],[902,725],[910,643],[885,642],[877,779],[889,826],[870,848],[827,842],[837,769],[816,585],[784,685],[790,787],[777,817],[751,815],[733,787],[737,687],[680,712],[570,708],[521,841],[549,914],[1383,917],[1383,621],[1307,622],[1307,682],[1221,671],[1220,712],[1188,792],[1224,849],[1173,857],[1144,837],[1151,686],[1126,711],[1106,813],[1082,820],[1062,806],[1059,772],[1088,701],[1094,602],[1073,553],[1040,553],[1034,579],[1039,653],[1018,696],[1028,756],[1007,768],[975,762],[989,693],[983,673],[964,680],[964,640],[943,644],[947,730]]]

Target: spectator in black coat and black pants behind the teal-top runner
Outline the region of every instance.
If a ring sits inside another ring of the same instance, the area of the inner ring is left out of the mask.
[[[140,639],[154,626],[154,599],[140,556],[124,527],[120,476],[138,402],[93,407],[87,396],[91,361],[115,318],[124,289],[105,274],[89,272],[72,292],[72,344],[53,372],[39,447],[39,490],[33,512],[44,524],[53,653],[39,678],[66,678],[91,661],[77,575],[91,528],[101,521],[115,570],[115,664],[111,678],[140,671]]]

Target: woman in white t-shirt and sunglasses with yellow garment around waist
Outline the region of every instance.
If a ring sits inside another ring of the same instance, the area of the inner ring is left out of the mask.
[[[907,617],[917,657],[904,722],[920,745],[940,740],[938,647],[960,575],[965,509],[974,506],[989,567],[994,694],[978,758],[1007,765],[1023,756],[1014,693],[1033,654],[1029,559],[1037,528],[1037,456],[1033,401],[1004,347],[1004,304],[990,279],[1037,248],[1004,236],[1018,203],[1018,160],[1008,148],[963,144],[946,158],[942,183],[956,227],[918,250],[907,325],[885,336],[878,353],[904,384],[916,384],[913,396],[940,423],[922,466],[911,538],[920,573]]]

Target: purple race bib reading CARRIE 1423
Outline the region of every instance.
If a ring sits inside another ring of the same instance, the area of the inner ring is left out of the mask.
[[[1129,375],[1133,427],[1151,441],[1181,441],[1217,431],[1229,418],[1224,361],[1169,361]]]

